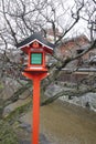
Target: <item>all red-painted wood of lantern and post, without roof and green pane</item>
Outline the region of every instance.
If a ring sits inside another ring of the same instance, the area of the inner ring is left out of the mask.
[[[46,53],[52,54],[53,50],[34,41],[30,45],[21,48],[28,54],[28,66],[22,73],[24,76],[33,81],[33,126],[32,126],[32,144],[39,144],[39,128],[40,128],[40,83],[41,80],[49,75],[45,63]],[[42,63],[32,64],[31,53],[42,53]]]

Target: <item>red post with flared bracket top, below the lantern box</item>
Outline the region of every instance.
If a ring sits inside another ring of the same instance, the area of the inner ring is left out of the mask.
[[[32,142],[39,144],[40,130],[40,83],[41,80],[47,76],[47,71],[42,72],[23,72],[23,75],[33,80],[33,125],[32,125]]]

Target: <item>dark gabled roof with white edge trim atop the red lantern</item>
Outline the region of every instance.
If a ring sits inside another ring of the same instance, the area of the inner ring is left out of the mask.
[[[49,49],[50,51],[53,51],[55,48],[55,44],[49,42],[45,38],[43,38],[40,33],[33,33],[31,37],[24,39],[20,43],[17,44],[17,48],[23,49],[30,44],[32,44],[34,41],[38,41],[41,43],[43,47]]]

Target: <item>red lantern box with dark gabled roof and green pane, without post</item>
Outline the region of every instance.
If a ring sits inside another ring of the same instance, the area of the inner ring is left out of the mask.
[[[23,42],[19,43],[18,48],[28,54],[28,66],[24,69],[24,72],[28,71],[29,73],[32,73],[34,71],[47,71],[45,55],[46,53],[53,53],[54,44],[47,42],[39,33],[34,33]]]

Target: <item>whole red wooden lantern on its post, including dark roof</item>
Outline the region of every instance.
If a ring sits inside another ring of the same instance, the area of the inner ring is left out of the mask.
[[[33,80],[33,134],[32,144],[39,144],[39,124],[40,124],[40,82],[47,76],[45,63],[46,53],[52,54],[54,44],[47,42],[39,33],[20,42],[18,45],[28,54],[28,65],[23,75]]]

